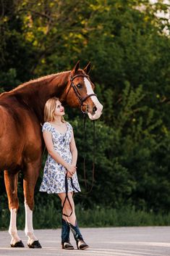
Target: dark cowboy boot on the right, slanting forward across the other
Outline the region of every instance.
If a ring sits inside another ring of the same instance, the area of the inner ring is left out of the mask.
[[[82,238],[82,234],[80,233],[80,228],[78,226],[77,220],[75,223],[75,226],[73,226],[71,223],[69,223],[69,226],[71,228],[72,234],[75,237],[75,241],[77,244],[77,249],[86,249],[88,248],[88,244],[85,243],[85,241]]]

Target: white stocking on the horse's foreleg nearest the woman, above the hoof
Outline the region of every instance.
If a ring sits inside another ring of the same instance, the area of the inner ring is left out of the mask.
[[[27,244],[32,244],[33,241],[38,239],[34,236],[33,231],[33,211],[30,210],[30,207],[25,202],[25,236],[28,236]]]

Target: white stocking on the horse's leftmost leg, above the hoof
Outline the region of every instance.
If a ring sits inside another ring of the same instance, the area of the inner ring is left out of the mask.
[[[17,209],[11,209],[10,212],[9,234],[12,236],[11,244],[16,244],[21,240],[17,234]]]

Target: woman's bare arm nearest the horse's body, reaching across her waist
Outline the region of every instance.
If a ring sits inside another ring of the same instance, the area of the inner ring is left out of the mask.
[[[61,165],[64,165],[64,167],[69,171],[69,173],[73,174],[75,173],[75,166],[69,165],[64,159],[54,150],[53,141],[51,137],[51,132],[49,131],[43,131],[43,139],[46,144],[46,149],[48,153],[51,155],[51,157],[54,158],[56,162],[58,162]]]

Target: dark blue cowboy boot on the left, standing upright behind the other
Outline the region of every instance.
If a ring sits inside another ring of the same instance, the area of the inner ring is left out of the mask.
[[[69,231],[70,231],[69,224],[63,218],[61,220],[61,224],[62,224],[62,229],[61,229],[62,249],[74,249],[72,244],[70,244],[70,242],[69,242]]]

